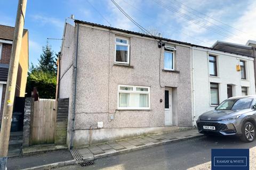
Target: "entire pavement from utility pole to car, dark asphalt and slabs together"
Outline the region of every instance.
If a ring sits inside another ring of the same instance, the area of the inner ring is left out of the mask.
[[[62,149],[7,160],[8,169],[50,169],[95,160],[107,156],[123,154],[135,150],[152,148],[183,140],[202,137],[196,129],[146,135],[143,137],[108,142],[80,149]]]

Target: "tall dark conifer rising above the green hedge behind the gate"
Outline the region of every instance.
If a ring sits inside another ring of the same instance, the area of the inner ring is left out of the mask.
[[[43,54],[41,54],[38,62],[38,69],[41,69],[44,72],[57,72],[55,56],[48,43],[43,47]]]

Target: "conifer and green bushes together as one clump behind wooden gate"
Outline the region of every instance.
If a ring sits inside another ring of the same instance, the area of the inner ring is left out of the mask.
[[[27,96],[31,96],[31,91],[36,87],[40,98],[55,98],[55,90],[57,83],[57,54],[51,49],[47,43],[43,47],[43,53],[38,60],[38,66],[33,63],[30,64],[28,79],[27,79]]]

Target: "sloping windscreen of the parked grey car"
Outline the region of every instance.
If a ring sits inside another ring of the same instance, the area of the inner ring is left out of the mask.
[[[217,110],[235,110],[235,109],[247,109],[251,107],[252,98],[243,99],[227,99],[223,101],[216,109]]]

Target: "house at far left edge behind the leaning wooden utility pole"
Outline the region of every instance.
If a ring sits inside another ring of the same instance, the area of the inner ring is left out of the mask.
[[[11,58],[14,27],[0,25],[0,122],[2,122],[6,81]],[[23,30],[15,96],[25,97],[28,72],[28,30]],[[14,101],[15,102],[15,101]]]

